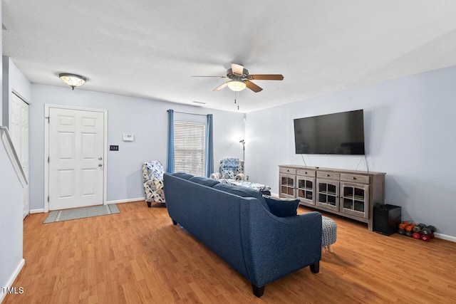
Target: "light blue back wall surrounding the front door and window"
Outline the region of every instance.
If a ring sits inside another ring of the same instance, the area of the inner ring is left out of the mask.
[[[214,167],[217,167],[219,159],[223,157],[242,157],[239,138],[244,135],[244,114],[241,113],[51,85],[33,84],[32,97],[31,210],[40,210],[44,206],[45,104],[108,110],[108,145],[119,145],[118,152],[108,151],[108,201],[144,197],[140,169],[142,162],[156,159],[166,164],[167,109],[214,115]],[[135,141],[123,142],[124,133],[135,135]]]

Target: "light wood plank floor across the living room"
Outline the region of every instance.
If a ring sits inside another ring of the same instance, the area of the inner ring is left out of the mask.
[[[118,207],[120,214],[53,224],[42,224],[47,214],[28,216],[26,263],[14,282],[24,294],[4,303],[456,303],[449,241],[383,236],[326,214],[338,240],[320,273],[301,269],[256,298],[247,279],[173,226],[166,209]]]

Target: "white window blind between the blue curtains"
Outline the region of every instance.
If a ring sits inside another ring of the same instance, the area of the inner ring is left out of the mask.
[[[193,122],[174,123],[174,171],[204,176],[206,126]]]

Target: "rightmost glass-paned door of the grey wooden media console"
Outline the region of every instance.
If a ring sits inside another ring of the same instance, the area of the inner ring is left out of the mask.
[[[341,212],[369,218],[369,185],[341,182]]]

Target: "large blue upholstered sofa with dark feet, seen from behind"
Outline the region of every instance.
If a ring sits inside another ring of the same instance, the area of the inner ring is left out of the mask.
[[[164,184],[172,223],[180,224],[247,278],[257,297],[267,283],[306,266],[318,273],[319,212],[275,216],[253,189],[182,172],[164,174]]]

